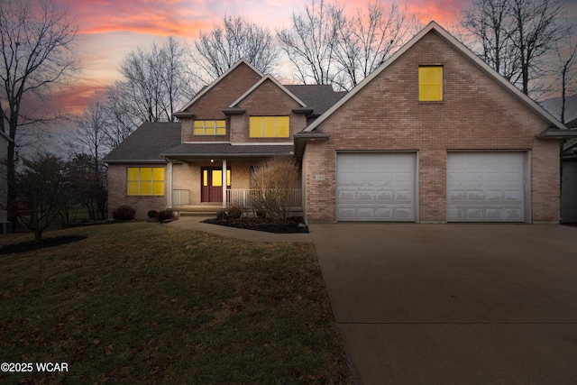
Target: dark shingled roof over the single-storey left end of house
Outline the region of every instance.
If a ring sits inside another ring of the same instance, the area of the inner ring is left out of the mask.
[[[105,163],[159,163],[160,152],[180,143],[179,123],[144,123],[102,160]]]

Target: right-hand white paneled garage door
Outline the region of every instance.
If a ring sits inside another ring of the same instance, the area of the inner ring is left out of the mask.
[[[447,221],[525,222],[525,152],[447,154]]]

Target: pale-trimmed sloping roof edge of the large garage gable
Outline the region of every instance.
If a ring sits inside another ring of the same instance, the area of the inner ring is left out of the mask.
[[[566,130],[566,127],[561,122],[559,122],[557,119],[555,119],[553,115],[546,112],[543,107],[538,105],[529,96],[527,96],[523,92],[521,92],[520,89],[518,89],[517,87],[515,87],[514,85],[509,83],[507,79],[501,77],[497,71],[492,69],[489,66],[489,64],[485,63],[483,60],[481,60],[481,58],[479,58],[477,55],[475,55],[472,52],[472,50],[469,50],[467,47],[465,47],[461,41],[458,41],[457,39],[455,39],[451,33],[445,31],[444,28],[441,27],[439,24],[437,24],[435,22],[431,22],[423,30],[418,32],[417,35],[415,35],[410,41],[408,41],[407,44],[405,44],[397,52],[395,52],[389,58],[389,60],[386,60],[383,64],[380,65],[379,68],[375,69],[374,71],[371,72],[371,74],[368,77],[364,78],[362,80],[362,82],[359,83],[359,85],[357,87],[354,87],[348,94],[346,94],[342,99],[340,99],[331,108],[329,108],[325,112],[325,114],[319,116],[319,118],[316,119],[315,122],[308,125],[307,128],[302,131],[302,133],[310,133],[313,130],[315,130],[319,124],[323,123],[330,115],[333,115],[333,113],[335,111],[337,111],[341,107],[341,105],[344,105],[348,100],[350,100],[353,96],[355,96],[357,93],[359,93],[363,87],[365,87],[367,84],[371,83],[372,79],[377,78],[382,71],[387,69],[392,63],[394,63],[396,60],[398,60],[399,57],[401,57],[405,52],[407,52],[410,48],[412,48],[417,43],[417,41],[420,41],[427,33],[431,32],[431,31],[435,31],[438,34],[440,34],[446,41],[448,41],[450,44],[452,44],[455,49],[461,51],[464,56],[466,56],[467,58],[472,60],[474,63],[476,63],[479,67],[481,67],[481,69],[483,69],[485,72],[487,72],[492,78],[495,78],[503,87],[506,87],[510,92],[512,92],[519,99],[521,99],[524,103],[526,103],[530,108],[532,108],[536,112],[537,115],[540,115],[541,117],[543,117],[555,129]],[[300,133],[299,133],[299,135],[300,135]]]

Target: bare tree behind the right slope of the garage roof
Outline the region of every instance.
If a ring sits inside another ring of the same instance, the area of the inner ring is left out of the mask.
[[[547,75],[546,59],[566,32],[562,15],[560,0],[475,0],[461,25],[481,46],[481,59],[529,95]]]

